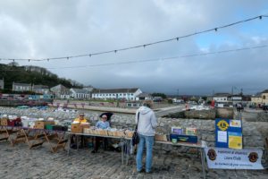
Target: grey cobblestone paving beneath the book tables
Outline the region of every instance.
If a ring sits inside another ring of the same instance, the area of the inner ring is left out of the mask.
[[[60,149],[54,154],[47,142],[29,149],[25,143],[12,147],[0,141],[0,178],[203,178],[200,162],[188,158],[154,155],[153,174],[137,173],[136,162],[121,165],[121,153],[90,148],[71,149],[70,156]],[[143,159],[144,163],[146,158]],[[266,170],[214,170],[206,168],[206,178],[268,178]]]

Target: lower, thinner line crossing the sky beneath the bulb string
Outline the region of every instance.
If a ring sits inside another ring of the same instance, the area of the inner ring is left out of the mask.
[[[96,67],[96,66],[106,66],[106,65],[115,65],[115,64],[133,64],[133,63],[143,63],[143,62],[152,62],[157,60],[168,60],[168,59],[176,59],[176,58],[187,58],[192,56],[201,56],[201,55],[216,55],[216,54],[222,54],[222,53],[229,53],[229,52],[239,52],[242,50],[252,50],[255,48],[262,48],[262,47],[268,47],[268,46],[259,46],[259,47],[246,47],[246,48],[238,48],[238,49],[232,49],[232,50],[224,50],[224,51],[217,51],[217,52],[210,52],[205,54],[195,54],[195,55],[178,55],[178,56],[172,56],[172,57],[164,57],[164,58],[155,58],[151,60],[137,60],[137,61],[131,61],[131,62],[121,62],[121,63],[114,63],[114,64],[93,64],[93,65],[82,65],[82,66],[67,66],[67,67],[57,67],[57,68],[46,68],[46,69],[66,69],[66,68],[84,68],[84,67]],[[4,71],[20,71],[20,70],[4,70]]]

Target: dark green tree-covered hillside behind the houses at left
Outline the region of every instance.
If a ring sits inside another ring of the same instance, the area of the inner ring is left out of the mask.
[[[18,63],[0,64],[0,79],[4,78],[4,89],[12,89],[13,81],[17,83],[34,83],[47,85],[49,88],[62,84],[67,88],[81,89],[83,85],[71,79],[59,78],[53,72],[39,66],[19,66]]]

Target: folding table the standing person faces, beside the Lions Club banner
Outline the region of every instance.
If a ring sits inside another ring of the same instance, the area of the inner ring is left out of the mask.
[[[132,145],[132,138],[125,138],[127,142],[127,146],[130,149],[130,145]],[[172,146],[185,146],[185,147],[191,147],[191,148],[200,148],[201,150],[201,162],[202,162],[202,169],[203,169],[203,176],[205,178],[205,148],[207,148],[205,141],[197,141],[197,143],[192,143],[192,142],[183,142],[183,141],[178,141],[177,143],[172,143],[172,141],[154,141],[155,143],[163,143],[163,144],[169,144]],[[128,151],[126,152],[126,165],[128,165],[129,162],[129,155],[130,155],[130,150],[127,149]],[[133,157],[134,157],[134,151],[133,151]]]

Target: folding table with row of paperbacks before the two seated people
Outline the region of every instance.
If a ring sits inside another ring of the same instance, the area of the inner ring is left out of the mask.
[[[66,132],[69,134],[69,141],[68,141],[68,151],[67,155],[69,156],[69,150],[70,150],[70,143],[71,143],[71,137],[70,135],[84,135],[84,136],[93,136],[93,137],[105,137],[105,138],[113,138],[113,139],[120,139],[121,142],[123,141],[123,137],[121,136],[114,136],[114,135],[98,135],[98,134],[91,134],[91,133],[75,133],[75,132]],[[79,137],[77,138],[78,140],[76,141],[77,143],[77,150],[79,149]],[[123,145],[121,145],[121,164],[123,164],[123,159],[124,159],[124,153],[123,153]]]

